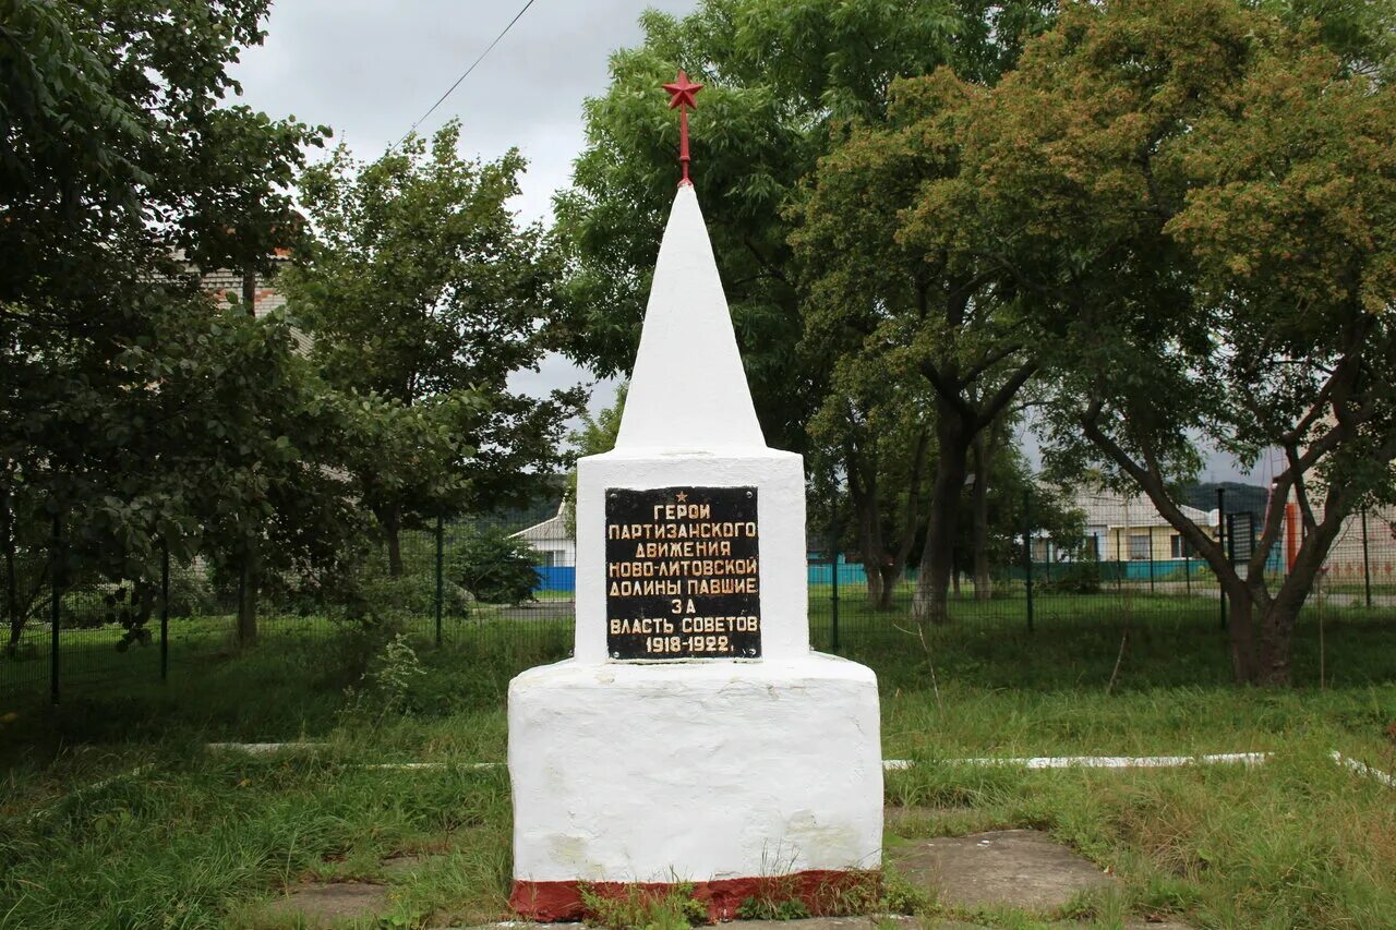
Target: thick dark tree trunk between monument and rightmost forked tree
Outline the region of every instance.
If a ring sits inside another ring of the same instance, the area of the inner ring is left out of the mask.
[[[960,489],[965,486],[965,458],[969,452],[965,422],[953,406],[937,404],[935,483],[931,486],[931,519],[921,552],[920,575],[912,599],[912,619],[945,623],[946,593],[955,559],[955,524],[959,518]]]

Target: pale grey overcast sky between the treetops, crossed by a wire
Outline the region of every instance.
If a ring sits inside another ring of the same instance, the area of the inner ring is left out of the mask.
[[[281,0],[262,46],[243,52],[233,74],[243,102],[274,117],[296,116],[334,128],[357,158],[377,158],[484,50],[524,0]],[[607,59],[639,42],[646,7],[684,14],[697,0],[535,0],[508,35],[419,131],[448,119],[462,123],[466,155],[493,159],[511,147],[529,162],[515,208],[524,221],[547,221],[551,195],[565,187],[582,149],[582,101],[609,84]],[[564,359],[521,373],[517,390],[586,383]],[[592,409],[609,404],[611,385],[593,391]],[[1036,443],[1025,443],[1036,462]],[[1252,480],[1259,480],[1261,475]],[[1213,457],[1203,479],[1237,480],[1240,471]]]

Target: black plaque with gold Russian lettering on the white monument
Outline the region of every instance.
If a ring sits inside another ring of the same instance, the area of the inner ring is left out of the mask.
[[[613,659],[755,659],[755,487],[606,492],[606,651]]]

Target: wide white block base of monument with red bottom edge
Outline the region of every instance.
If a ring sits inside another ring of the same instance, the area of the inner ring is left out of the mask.
[[[732,917],[759,883],[866,883],[882,856],[877,679],[854,662],[579,665],[510,684],[514,895],[694,883]]]

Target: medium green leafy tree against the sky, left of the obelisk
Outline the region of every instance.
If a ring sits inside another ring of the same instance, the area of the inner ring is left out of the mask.
[[[405,521],[533,493],[579,404],[577,391],[508,391],[511,374],[556,345],[554,265],[540,230],[519,229],[507,207],[518,152],[480,163],[458,147],[459,126],[448,123],[430,148],[409,137],[367,165],[339,148],[307,169],[302,202],[315,235],[282,278],[324,377],[389,416],[378,422],[416,450],[387,464],[369,447],[350,462],[392,575],[402,574]],[[437,440],[420,431],[429,419]]]

